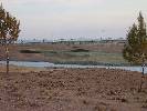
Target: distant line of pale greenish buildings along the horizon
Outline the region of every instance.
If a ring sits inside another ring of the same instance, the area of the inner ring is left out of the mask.
[[[124,44],[126,39],[118,38],[107,38],[107,39],[56,39],[56,40],[48,40],[48,39],[32,39],[32,40],[18,40],[15,43],[53,43],[53,44],[96,44],[96,43],[113,43],[113,44]]]

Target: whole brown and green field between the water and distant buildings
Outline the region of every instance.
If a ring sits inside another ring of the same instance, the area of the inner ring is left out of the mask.
[[[48,61],[55,63],[126,63],[118,44],[14,44],[10,60]],[[2,50],[1,60],[4,59]]]

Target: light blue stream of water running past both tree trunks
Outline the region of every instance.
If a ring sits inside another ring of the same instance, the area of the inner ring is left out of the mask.
[[[0,61],[3,65],[6,65],[6,61]],[[127,71],[137,71],[143,72],[143,68],[140,65],[82,65],[82,64],[54,64],[50,62],[30,62],[30,61],[10,61],[10,65],[15,67],[24,67],[24,68],[33,68],[35,69],[116,69],[116,70],[127,70]],[[147,73],[147,67],[145,68],[145,73]]]

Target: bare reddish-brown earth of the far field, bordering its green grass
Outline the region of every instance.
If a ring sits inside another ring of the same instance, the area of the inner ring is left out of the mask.
[[[74,49],[86,49],[91,51],[105,51],[113,53],[120,53],[123,44],[49,44],[49,43],[34,43],[34,44],[11,44],[9,46],[10,50],[10,60],[19,61],[49,61],[51,58],[45,57],[43,53],[21,53],[21,50],[74,50]],[[0,60],[4,60],[4,48],[0,48]]]

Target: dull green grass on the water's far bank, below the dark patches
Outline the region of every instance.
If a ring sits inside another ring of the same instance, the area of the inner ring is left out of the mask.
[[[55,62],[104,62],[104,63],[126,63],[122,53],[107,53],[103,51],[42,51],[45,57]]]

